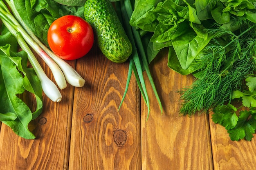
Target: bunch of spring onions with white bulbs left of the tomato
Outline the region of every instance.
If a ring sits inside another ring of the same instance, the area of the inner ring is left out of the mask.
[[[57,86],[47,77],[29,46],[34,49],[34,51],[36,51],[36,53],[44,60],[47,66],[49,66],[53,73],[56,84],[60,89],[67,86],[66,80],[72,86],[82,87],[85,84],[85,80],[81,77],[81,75],[79,75],[79,73],[77,73],[72,66],[67,64],[67,62],[50,51],[42,42],[40,42],[34,33],[28,29],[18,15],[18,11],[13,4],[13,0],[6,0],[6,2],[13,11],[13,14],[15,14],[15,17],[11,14],[4,2],[0,1],[0,19],[7,29],[16,37],[22,50],[27,53],[29,62],[41,81],[45,95],[54,102],[60,102],[62,98]],[[20,22],[22,22],[25,29],[20,25],[16,17],[18,20],[20,20]]]

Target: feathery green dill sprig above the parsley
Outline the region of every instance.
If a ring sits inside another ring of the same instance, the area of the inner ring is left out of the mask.
[[[256,25],[234,23],[239,24],[236,31],[223,26],[208,30],[214,38],[193,63],[200,77],[179,91],[180,113],[193,115],[230,102],[233,90],[242,88],[245,76],[254,73]]]

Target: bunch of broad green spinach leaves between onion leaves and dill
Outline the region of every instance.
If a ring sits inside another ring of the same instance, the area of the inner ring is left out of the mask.
[[[208,9],[213,8],[215,4],[216,2],[211,3]],[[153,50],[173,46],[168,55],[170,68],[181,74],[194,72],[190,64],[211,40],[198,17],[195,1],[153,1],[150,8],[146,9],[144,6],[144,2],[138,0],[130,24],[144,31],[153,32],[150,39],[150,42],[153,42]],[[208,12],[211,15],[211,11]],[[175,51],[175,55],[172,50]]]

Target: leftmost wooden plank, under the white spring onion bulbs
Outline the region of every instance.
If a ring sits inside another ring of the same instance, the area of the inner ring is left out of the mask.
[[[47,75],[53,79],[47,66],[41,63]],[[74,66],[75,62],[70,64]],[[43,96],[43,113],[29,126],[36,139],[18,137],[11,128],[2,124],[1,170],[67,170],[74,87],[68,85],[61,93],[63,99],[60,103]],[[25,98],[33,105],[29,95]]]

